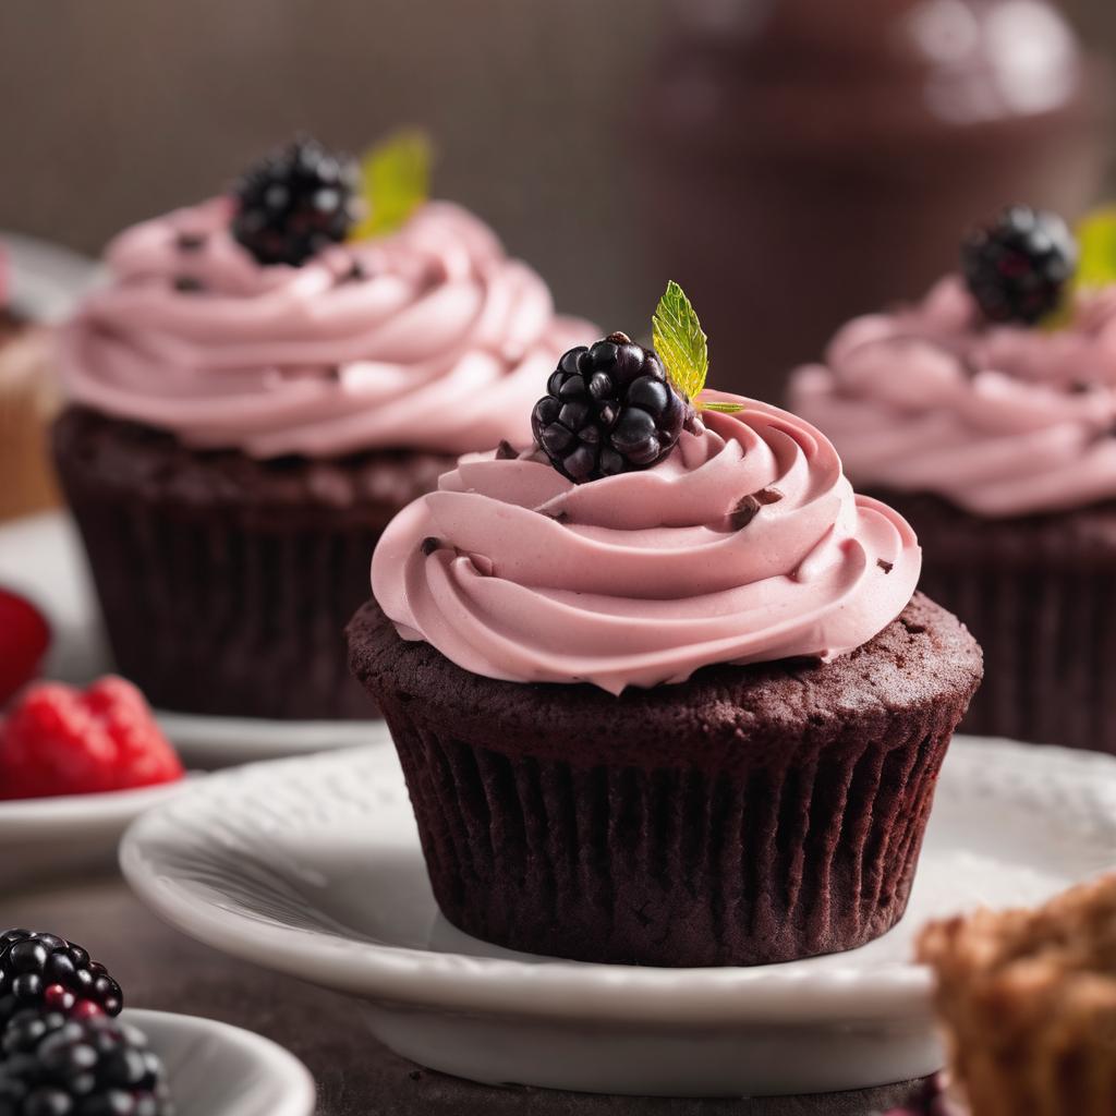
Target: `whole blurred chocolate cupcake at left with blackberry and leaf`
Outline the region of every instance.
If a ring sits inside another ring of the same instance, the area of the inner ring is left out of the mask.
[[[367,716],[341,631],[395,512],[463,452],[528,436],[591,336],[429,146],[362,165],[299,140],[228,196],[138,224],[65,328],[65,493],[117,665],[160,708]]]

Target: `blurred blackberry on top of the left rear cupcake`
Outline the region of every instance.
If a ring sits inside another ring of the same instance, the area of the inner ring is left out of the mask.
[[[252,166],[237,184],[232,234],[260,263],[301,267],[343,241],[359,215],[360,171],[346,155],[297,140]]]

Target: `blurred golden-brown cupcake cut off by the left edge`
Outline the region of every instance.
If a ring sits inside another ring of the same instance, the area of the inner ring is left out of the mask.
[[[0,243],[0,520],[58,500],[47,451],[58,407],[52,338],[17,309],[11,291],[11,261]]]

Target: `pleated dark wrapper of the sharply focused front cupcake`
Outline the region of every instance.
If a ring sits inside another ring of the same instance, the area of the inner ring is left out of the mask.
[[[533,953],[672,966],[786,961],[894,925],[961,713],[730,775],[508,757],[381,696],[451,922]]]

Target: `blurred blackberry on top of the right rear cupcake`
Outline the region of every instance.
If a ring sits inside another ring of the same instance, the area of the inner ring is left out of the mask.
[[[965,239],[961,266],[987,318],[1033,325],[1057,308],[1077,266],[1077,244],[1056,213],[1011,205]]]

